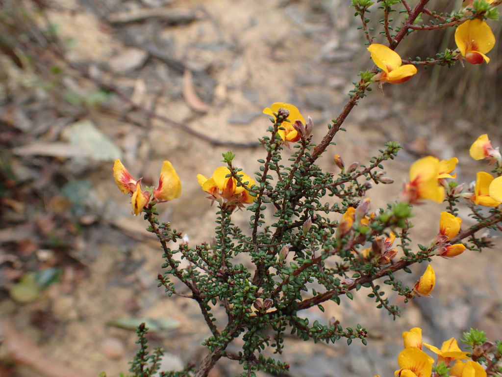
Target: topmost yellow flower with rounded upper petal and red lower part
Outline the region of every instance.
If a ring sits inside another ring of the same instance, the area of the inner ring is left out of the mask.
[[[455,43],[460,54],[471,64],[490,62],[485,55],[495,45],[490,27],[481,20],[467,20],[455,30]]]

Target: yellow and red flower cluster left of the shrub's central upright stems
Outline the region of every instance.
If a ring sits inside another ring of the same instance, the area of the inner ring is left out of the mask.
[[[241,184],[230,175],[230,169],[226,166],[220,166],[213,172],[211,178],[206,178],[202,174],[197,175],[197,180],[207,194],[208,199],[216,200],[221,205],[242,207],[244,204],[253,203],[256,197],[249,195],[249,190],[256,183],[253,178],[243,172],[238,172]]]

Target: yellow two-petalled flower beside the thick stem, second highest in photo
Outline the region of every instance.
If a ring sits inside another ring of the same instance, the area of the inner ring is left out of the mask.
[[[373,43],[368,47],[371,59],[382,72],[373,76],[373,80],[398,84],[408,81],[411,76],[417,73],[417,67],[413,64],[401,65],[401,57],[396,51],[389,47]]]

